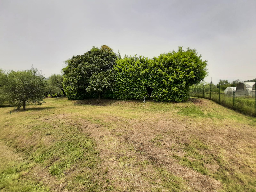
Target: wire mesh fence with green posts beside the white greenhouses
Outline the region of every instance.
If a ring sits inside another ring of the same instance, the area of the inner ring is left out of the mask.
[[[224,92],[220,89],[220,86],[211,83],[200,83],[190,87],[190,96],[210,99],[243,114],[256,116],[255,88],[244,92],[236,92],[234,85],[231,90]]]

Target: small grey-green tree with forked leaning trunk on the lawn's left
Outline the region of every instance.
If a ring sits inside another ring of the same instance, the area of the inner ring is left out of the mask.
[[[37,69],[27,71],[8,72],[5,91],[8,93],[9,102],[17,106],[17,111],[26,103],[41,105],[47,81]]]

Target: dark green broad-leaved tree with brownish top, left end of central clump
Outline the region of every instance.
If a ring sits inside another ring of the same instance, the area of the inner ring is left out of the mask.
[[[112,69],[116,54],[106,45],[92,47],[84,55],[73,56],[62,69],[64,89],[69,99],[83,99],[94,92],[101,93],[112,89]]]

